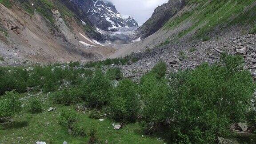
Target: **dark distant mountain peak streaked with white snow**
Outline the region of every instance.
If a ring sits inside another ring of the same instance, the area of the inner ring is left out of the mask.
[[[116,7],[106,0],[71,0],[88,16],[90,22],[104,31],[115,31],[120,27],[136,27],[138,23],[131,16],[125,19]]]

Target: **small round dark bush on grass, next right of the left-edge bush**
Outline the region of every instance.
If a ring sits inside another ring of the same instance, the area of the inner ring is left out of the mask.
[[[32,114],[43,112],[43,103],[40,100],[32,99],[26,106],[26,111]]]

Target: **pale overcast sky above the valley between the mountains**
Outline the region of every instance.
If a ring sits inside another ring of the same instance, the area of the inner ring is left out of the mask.
[[[132,16],[138,23],[146,22],[154,9],[168,0],[108,0],[111,1],[122,15]]]

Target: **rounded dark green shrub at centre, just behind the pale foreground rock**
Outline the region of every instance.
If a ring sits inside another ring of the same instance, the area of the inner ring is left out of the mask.
[[[121,122],[133,122],[140,111],[137,85],[132,80],[121,80],[114,89],[113,98],[109,104],[112,119]]]

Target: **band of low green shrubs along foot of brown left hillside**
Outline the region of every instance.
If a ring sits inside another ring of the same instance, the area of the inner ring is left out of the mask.
[[[0,95],[11,90],[23,93],[28,87],[34,87],[35,90],[43,88],[45,92],[51,92],[65,82],[81,84],[83,78],[92,76],[92,70],[73,66],[0,67]]]

